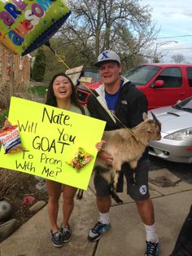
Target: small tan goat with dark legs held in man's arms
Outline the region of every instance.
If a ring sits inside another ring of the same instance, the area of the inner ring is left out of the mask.
[[[103,140],[106,141],[103,150],[111,155],[113,162],[109,165],[106,161],[97,157],[94,170],[98,171],[111,185],[111,196],[119,204],[123,203],[123,201],[116,195],[116,184],[118,182],[121,166],[124,162],[127,162],[134,170],[149,140],[161,139],[161,123],[153,113],[151,113],[151,115],[153,119],[148,119],[146,113],[143,113],[144,121],[131,129],[133,133],[126,128],[121,128],[118,130],[105,131],[103,134]],[[133,134],[135,136],[133,136]],[[81,191],[78,192],[77,198],[81,200]]]

